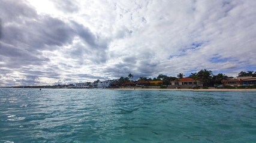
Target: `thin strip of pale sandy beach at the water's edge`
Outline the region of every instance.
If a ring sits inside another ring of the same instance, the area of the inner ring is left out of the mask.
[[[160,89],[160,88],[115,88],[111,90],[141,90],[141,91],[256,91],[256,89]]]

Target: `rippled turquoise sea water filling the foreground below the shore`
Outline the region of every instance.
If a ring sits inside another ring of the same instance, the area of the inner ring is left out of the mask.
[[[0,88],[0,142],[256,142],[256,92]]]

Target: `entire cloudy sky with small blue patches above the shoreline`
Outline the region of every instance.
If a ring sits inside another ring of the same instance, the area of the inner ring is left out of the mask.
[[[0,0],[0,86],[256,71],[256,1]]]

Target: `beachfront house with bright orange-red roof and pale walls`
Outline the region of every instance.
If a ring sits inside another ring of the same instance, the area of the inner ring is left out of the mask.
[[[184,77],[178,80],[173,80],[168,85],[168,88],[192,88],[193,86],[203,86],[200,80],[194,80],[190,77]]]

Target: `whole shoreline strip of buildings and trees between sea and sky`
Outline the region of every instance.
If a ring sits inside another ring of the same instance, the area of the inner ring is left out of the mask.
[[[129,73],[127,77],[120,77],[113,80],[95,80],[94,82],[79,82],[69,85],[44,85],[44,86],[11,86],[8,88],[58,88],[58,89],[92,89],[92,88],[225,88],[245,89],[256,88],[256,71],[241,71],[237,77],[228,77],[225,74],[212,74],[210,70],[200,70],[198,73],[191,73],[188,77],[179,73],[177,77],[159,74],[158,77],[139,77],[133,80],[134,75]]]

